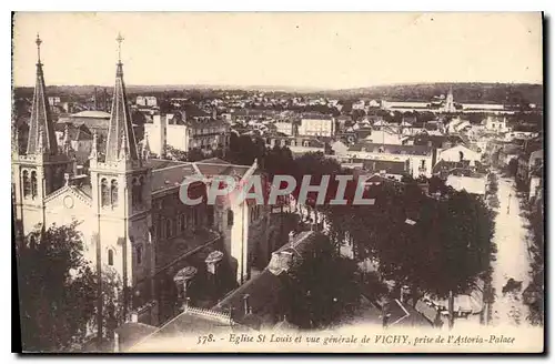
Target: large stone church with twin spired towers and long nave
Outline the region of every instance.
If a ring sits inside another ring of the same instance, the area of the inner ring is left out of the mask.
[[[122,40],[118,38],[120,53]],[[266,265],[275,247],[269,236],[272,218],[268,206],[249,201],[189,206],[179,196],[188,176],[200,178],[203,182],[196,183],[205,191],[215,175],[232,175],[239,182],[261,173],[256,161],[234,165],[220,159],[196,163],[152,159],[148,141],[135,140],[119,57],[107,141],[100,146],[94,133],[88,163],[78,164],[67,132],[62,145],[57,141],[41,43],[37,37],[27,148],[12,152],[19,232],[77,223],[92,266],[98,273],[114,271],[121,279],[121,302],[129,307],[123,320],[139,314],[139,321],[151,325],[174,314],[174,293],[164,290],[175,290],[175,273],[184,269],[195,272],[198,277],[192,280],[200,283],[191,292],[196,292],[202,305],[206,297],[202,289],[221,281],[211,280],[210,274],[222,271],[233,289],[250,280],[256,266]],[[13,139],[18,145],[17,129]],[[215,267],[218,264],[222,267]],[[229,290],[219,286],[211,292],[215,292],[210,296],[215,301]]]

